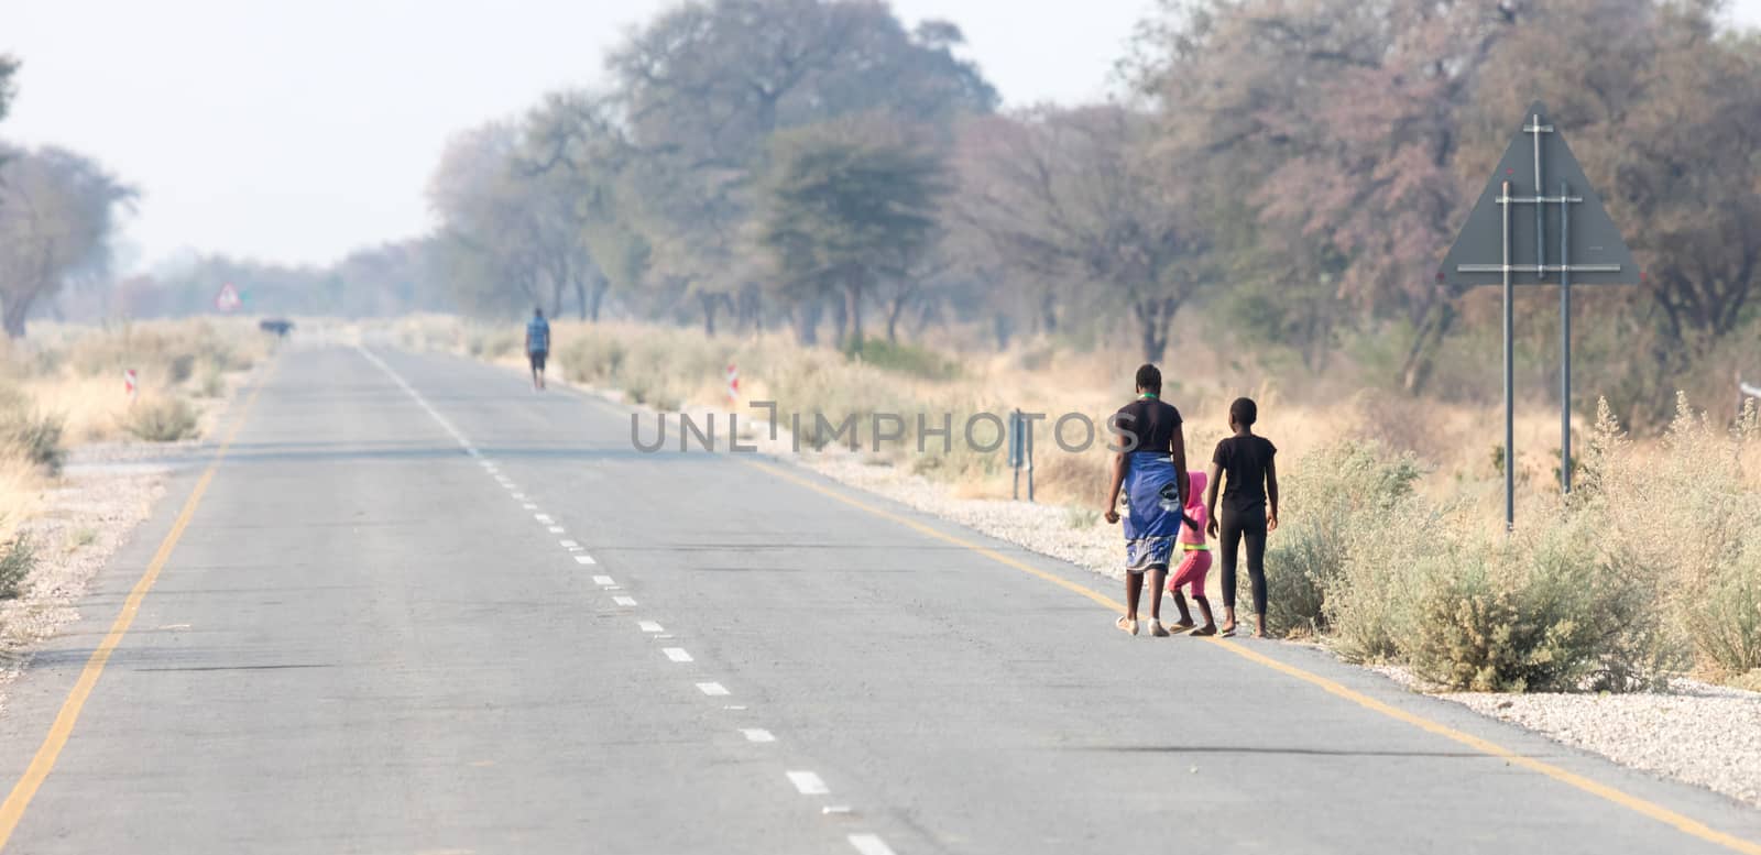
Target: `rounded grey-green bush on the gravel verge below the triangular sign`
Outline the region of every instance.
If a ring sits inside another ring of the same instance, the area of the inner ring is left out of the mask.
[[[1576,514],[1534,537],[1460,540],[1414,579],[1398,644],[1412,670],[1470,691],[1627,691],[1682,663],[1655,579],[1601,551],[1604,521]]]

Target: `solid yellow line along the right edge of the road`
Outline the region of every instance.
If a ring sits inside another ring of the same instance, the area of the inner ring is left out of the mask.
[[[990,547],[986,547],[983,544],[974,544],[972,540],[967,540],[963,537],[949,535],[946,531],[939,531],[939,530],[930,528],[930,526],[926,526],[923,522],[917,522],[916,519],[903,517],[900,514],[893,514],[891,510],[886,510],[886,508],[879,508],[875,505],[870,505],[866,501],[861,501],[858,498],[852,498],[852,496],[847,496],[847,494],[844,494],[840,491],[826,487],[824,484],[819,484],[815,480],[803,479],[803,477],[799,477],[799,475],[796,475],[792,471],[785,471],[784,468],[780,468],[777,464],[759,463],[759,461],[745,461],[745,463],[748,466],[764,470],[766,473],[770,473],[770,475],[773,475],[777,479],[787,480],[787,482],[796,484],[799,487],[807,487],[807,489],[810,489],[814,493],[819,493],[822,496],[838,500],[838,501],[842,501],[842,503],[845,503],[845,505],[849,505],[852,508],[865,510],[865,512],[868,512],[872,515],[877,515],[880,519],[886,519],[886,521],[891,521],[891,522],[898,522],[898,524],[902,524],[902,526],[905,526],[905,528],[909,528],[912,531],[917,531],[919,535],[932,537],[932,538],[940,540],[944,544],[953,544],[953,545],[958,545],[958,547],[965,547],[965,549],[969,549],[972,552],[977,552],[977,554],[981,554],[984,558],[990,558],[990,559],[993,559],[993,561],[997,561],[1000,565],[1011,566],[1014,570],[1021,570],[1023,574],[1028,574],[1028,575],[1032,575],[1035,579],[1044,579],[1044,581],[1048,581],[1048,582],[1051,582],[1051,584],[1055,584],[1058,588],[1064,588],[1067,591],[1083,595],[1083,596],[1087,596],[1087,598],[1090,598],[1090,600],[1094,600],[1094,602],[1097,602],[1101,605],[1106,605],[1108,609],[1113,609],[1115,612],[1125,614],[1125,605],[1124,603],[1120,603],[1118,600],[1113,600],[1111,596],[1108,596],[1108,595],[1104,595],[1101,591],[1095,591],[1094,588],[1088,588],[1088,586],[1083,586],[1083,584],[1078,584],[1078,582],[1071,582],[1069,579],[1064,579],[1064,577],[1058,577],[1055,574],[1048,574],[1044,570],[1039,570],[1037,566],[1032,566],[1032,565],[1028,565],[1025,561],[1018,561],[1014,558],[1009,558],[1009,556],[1006,556],[1006,554],[1002,554],[1002,552],[998,552],[995,549],[990,549]],[[1407,711],[1404,711],[1400,707],[1395,707],[1391,704],[1386,704],[1386,702],[1381,702],[1377,698],[1372,698],[1372,697],[1368,697],[1368,695],[1365,695],[1361,691],[1345,688],[1344,684],[1340,684],[1337,681],[1331,681],[1331,679],[1326,679],[1326,677],[1323,677],[1319,674],[1314,674],[1310,670],[1298,669],[1296,665],[1289,665],[1289,663],[1278,661],[1278,660],[1275,660],[1271,656],[1266,656],[1264,653],[1243,647],[1242,644],[1231,642],[1229,639],[1206,639],[1206,640],[1212,642],[1212,644],[1217,644],[1222,649],[1226,649],[1226,651],[1229,651],[1229,653],[1233,653],[1236,656],[1242,656],[1242,658],[1245,658],[1245,660],[1249,660],[1249,661],[1252,661],[1256,665],[1268,667],[1268,669],[1277,670],[1277,672],[1280,672],[1280,674],[1284,674],[1287,677],[1294,677],[1294,679],[1300,679],[1300,681],[1308,683],[1312,686],[1317,686],[1317,688],[1328,691],[1330,695],[1345,698],[1345,700],[1349,700],[1349,702],[1352,702],[1352,704],[1356,704],[1356,705],[1359,705],[1363,709],[1368,709],[1372,712],[1381,712],[1381,714],[1384,714],[1388,718],[1393,718],[1396,721],[1404,721],[1404,723],[1412,725],[1412,727],[1416,727],[1419,730],[1425,730],[1428,734],[1435,734],[1435,735],[1440,735],[1444,739],[1460,742],[1460,744],[1463,744],[1467,748],[1472,748],[1474,751],[1479,751],[1479,753],[1488,755],[1488,756],[1497,756],[1500,760],[1506,760],[1509,764],[1520,765],[1520,767],[1529,769],[1532,772],[1541,772],[1541,774],[1544,774],[1544,776],[1548,776],[1548,778],[1551,778],[1555,781],[1560,781],[1564,785],[1574,786],[1574,788],[1583,790],[1583,792],[1587,792],[1590,795],[1595,795],[1595,797],[1604,799],[1608,802],[1618,804],[1620,808],[1627,808],[1629,811],[1639,813],[1639,815],[1648,816],[1652,820],[1657,820],[1657,822],[1661,822],[1664,825],[1669,825],[1669,827],[1673,827],[1673,829],[1676,829],[1676,830],[1680,830],[1680,832],[1684,832],[1687,836],[1699,837],[1699,839],[1703,839],[1706,843],[1715,843],[1715,844],[1724,846],[1724,848],[1733,850],[1733,851],[1742,851],[1743,855],[1761,855],[1761,843],[1754,843],[1754,841],[1738,837],[1735,834],[1720,832],[1720,830],[1717,830],[1717,829],[1713,829],[1713,827],[1710,827],[1710,825],[1706,825],[1706,823],[1703,823],[1699,820],[1694,820],[1692,816],[1671,811],[1671,809],[1668,809],[1668,808],[1664,808],[1664,806],[1661,806],[1657,802],[1650,802],[1650,800],[1639,799],[1638,795],[1627,793],[1624,790],[1617,790],[1617,788],[1608,786],[1604,783],[1592,781],[1592,779],[1588,779],[1588,778],[1585,778],[1585,776],[1581,776],[1578,772],[1571,772],[1571,771],[1560,769],[1560,767],[1557,767],[1553,764],[1548,764],[1548,762],[1543,762],[1543,760],[1536,760],[1532,756],[1520,755],[1520,753],[1516,753],[1516,751],[1513,751],[1509,748],[1504,748],[1504,746],[1500,746],[1497,742],[1476,737],[1472,734],[1463,734],[1462,730],[1456,730],[1456,728],[1453,728],[1449,725],[1444,725],[1440,721],[1432,721],[1432,720],[1428,720],[1425,716],[1419,716],[1416,712],[1407,712]]]

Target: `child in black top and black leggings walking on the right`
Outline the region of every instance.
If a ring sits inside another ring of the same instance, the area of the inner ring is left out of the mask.
[[[1205,487],[1206,526],[1222,545],[1222,628],[1234,635],[1234,565],[1236,551],[1247,542],[1247,577],[1254,584],[1254,637],[1266,637],[1266,533],[1278,528],[1278,470],[1271,457],[1278,449],[1254,435],[1259,406],[1252,398],[1229,405],[1229,429],[1234,436],[1217,443],[1212,454],[1210,484]],[[1222,515],[1217,514],[1217,484],[1222,491]],[[1271,510],[1266,510],[1266,505]],[[1220,533],[1219,533],[1220,530]]]

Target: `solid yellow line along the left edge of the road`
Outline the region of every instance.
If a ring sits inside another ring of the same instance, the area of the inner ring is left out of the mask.
[[[42,737],[42,744],[37,746],[35,756],[30,758],[30,765],[25,767],[25,774],[7,793],[5,802],[0,802],[0,850],[5,850],[7,841],[12,839],[12,832],[18,830],[18,823],[25,818],[25,809],[30,808],[30,800],[35,799],[37,790],[42,781],[49,778],[55,771],[55,762],[62,756],[62,748],[74,735],[74,725],[79,721],[79,712],[86,705],[86,698],[92,697],[92,690],[97,688],[99,677],[104,674],[104,665],[109,663],[111,653],[122,644],[123,635],[134,625],[134,616],[141,610],[141,602],[146,600],[146,593],[153,589],[153,582],[158,581],[158,572],[164,570],[166,561],[171,559],[171,552],[178,547],[178,540],[183,538],[183,530],[190,526],[190,517],[195,515],[195,507],[201,505],[203,494],[208,493],[208,484],[213,482],[215,470],[220,468],[220,461],[225,459],[227,449],[232,447],[232,440],[238,431],[245,426],[245,417],[250,415],[252,405],[257,403],[257,396],[262,394],[262,387],[269,382],[269,373],[273,373],[275,364],[271,362],[257,387],[252,389],[250,398],[239,408],[238,417],[227,429],[225,438],[215,449],[213,459],[208,468],[203,470],[201,479],[195,480],[195,487],[190,491],[190,498],[183,500],[183,508],[178,510],[178,519],[171,522],[171,531],[166,538],[158,542],[158,549],[153,552],[153,559],[146,565],[146,572],[141,579],[134,582],[129,591],[129,598],[122,603],[122,612],[111,621],[109,632],[104,640],[99,642],[92,656],[86,658],[86,667],[79,672],[79,679],[74,681],[74,688],[67,693],[67,700],[62,702],[60,712],[55,714],[55,723],[49,725],[48,735]]]

